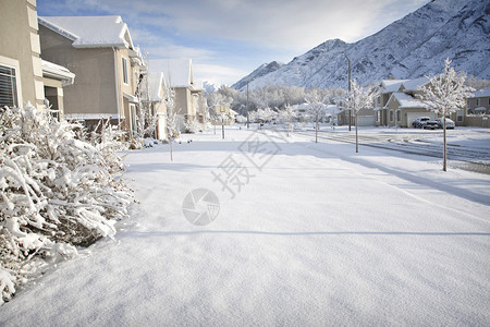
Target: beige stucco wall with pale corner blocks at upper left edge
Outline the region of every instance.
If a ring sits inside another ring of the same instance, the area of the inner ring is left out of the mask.
[[[1,0],[0,63],[17,70],[19,101],[42,107],[44,84],[37,35],[36,2]]]

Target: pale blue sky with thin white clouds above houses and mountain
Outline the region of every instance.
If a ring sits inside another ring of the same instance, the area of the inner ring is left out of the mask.
[[[195,80],[231,85],[262,63],[287,63],[323,41],[355,43],[428,0],[39,0],[39,16],[121,15],[133,43],[191,58]],[[154,63],[154,64],[152,64]]]

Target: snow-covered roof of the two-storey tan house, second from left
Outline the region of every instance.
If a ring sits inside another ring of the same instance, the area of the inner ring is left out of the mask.
[[[75,48],[133,49],[130,31],[121,16],[42,16],[38,22],[73,40]]]

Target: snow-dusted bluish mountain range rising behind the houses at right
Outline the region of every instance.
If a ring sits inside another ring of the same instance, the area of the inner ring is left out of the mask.
[[[304,87],[344,87],[347,60],[352,78],[360,84],[373,81],[416,78],[442,72],[444,59],[479,78],[490,78],[490,0],[433,0],[390,24],[377,34],[354,44],[328,40],[290,63],[247,77],[249,87],[284,84]]]

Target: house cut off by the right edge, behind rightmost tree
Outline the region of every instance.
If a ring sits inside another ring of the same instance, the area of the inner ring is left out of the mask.
[[[475,92],[467,104],[466,111],[456,112],[456,123],[465,126],[490,128],[490,87]]]

